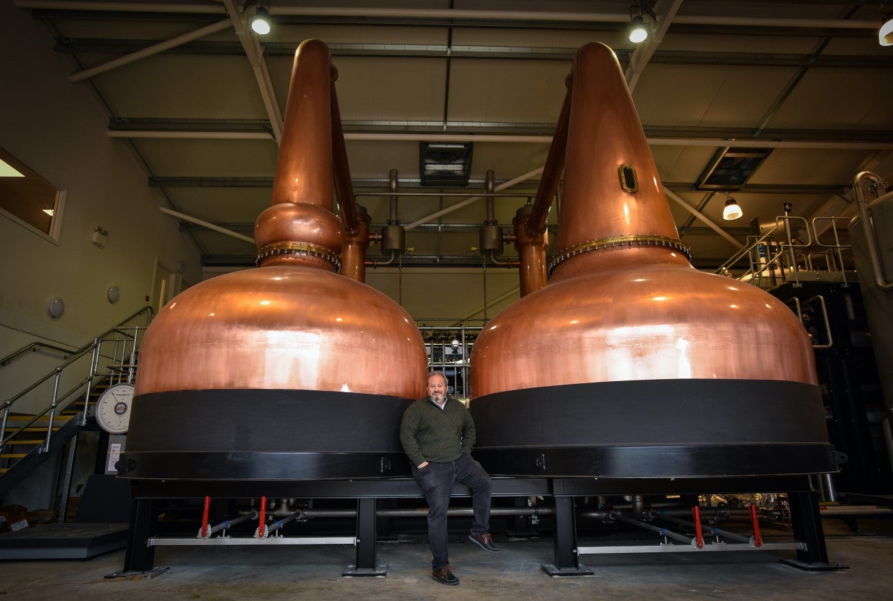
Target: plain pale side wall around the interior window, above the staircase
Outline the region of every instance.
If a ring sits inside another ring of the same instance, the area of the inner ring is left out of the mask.
[[[66,193],[58,242],[0,213],[0,356],[36,338],[84,345],[147,305],[156,261],[174,271],[182,261],[184,279],[201,279],[198,247],[158,210],[163,197],[127,143],[107,137],[108,115],[87,83],[69,82],[77,68],[53,45],[29,11],[0,3],[0,146]],[[104,249],[90,240],[97,225],[109,232]],[[105,296],[113,285],[114,305]],[[55,296],[65,303],[56,320],[46,313]],[[2,396],[55,360],[29,355],[0,367]]]

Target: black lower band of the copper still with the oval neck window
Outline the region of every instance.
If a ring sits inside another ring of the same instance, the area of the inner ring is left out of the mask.
[[[472,400],[492,474],[738,478],[837,472],[818,387],[778,380],[636,380]]]

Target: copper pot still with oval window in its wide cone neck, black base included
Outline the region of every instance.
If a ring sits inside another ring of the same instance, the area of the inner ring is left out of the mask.
[[[689,263],[602,44],[573,61],[564,173],[550,280],[473,349],[481,463],[518,475],[834,471],[805,329],[763,290]]]

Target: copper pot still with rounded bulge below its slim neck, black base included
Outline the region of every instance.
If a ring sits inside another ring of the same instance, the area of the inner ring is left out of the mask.
[[[427,358],[399,305],[337,272],[345,231],[332,213],[332,74],[325,44],[298,47],[271,206],[255,224],[259,267],[188,288],[146,331],[121,475],[406,471],[397,430],[424,390]]]

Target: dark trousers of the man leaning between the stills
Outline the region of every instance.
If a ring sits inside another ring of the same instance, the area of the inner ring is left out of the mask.
[[[463,453],[450,463],[428,463],[421,470],[413,468],[415,481],[428,500],[428,536],[431,539],[431,568],[439,570],[449,563],[447,554],[447,508],[453,492],[453,482],[472,489],[474,521],[472,534],[483,534],[490,529],[490,476]]]

